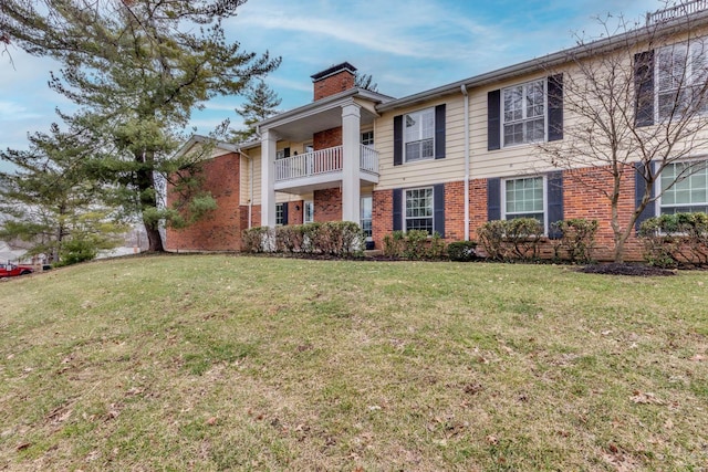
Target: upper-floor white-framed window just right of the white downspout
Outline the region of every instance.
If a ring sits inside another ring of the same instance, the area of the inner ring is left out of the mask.
[[[545,81],[503,88],[502,117],[504,146],[545,139]]]

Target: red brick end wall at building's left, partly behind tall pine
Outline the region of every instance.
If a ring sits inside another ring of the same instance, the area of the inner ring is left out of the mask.
[[[243,208],[240,200],[240,158],[236,153],[215,157],[204,162],[201,174],[205,188],[211,191],[217,209],[205,219],[181,230],[167,230],[169,251],[233,251],[240,249]],[[167,204],[177,196],[167,189]]]

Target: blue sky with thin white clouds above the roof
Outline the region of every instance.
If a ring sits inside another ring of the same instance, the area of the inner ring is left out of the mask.
[[[225,23],[243,51],[281,56],[266,83],[282,111],[312,101],[310,76],[348,62],[378,92],[404,97],[597,38],[598,18],[643,21],[660,0],[249,0]],[[10,45],[0,55],[0,148],[25,149],[28,133],[48,132],[72,104],[48,86],[59,65]],[[192,114],[207,134],[223,119],[240,128],[239,96],[210,99]],[[9,165],[0,161],[0,170]]]

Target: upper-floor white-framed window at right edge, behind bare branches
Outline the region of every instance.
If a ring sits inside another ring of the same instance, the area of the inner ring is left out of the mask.
[[[696,39],[658,51],[655,67],[658,119],[680,116],[690,106],[697,106],[700,112],[708,109],[706,48],[708,41]]]

